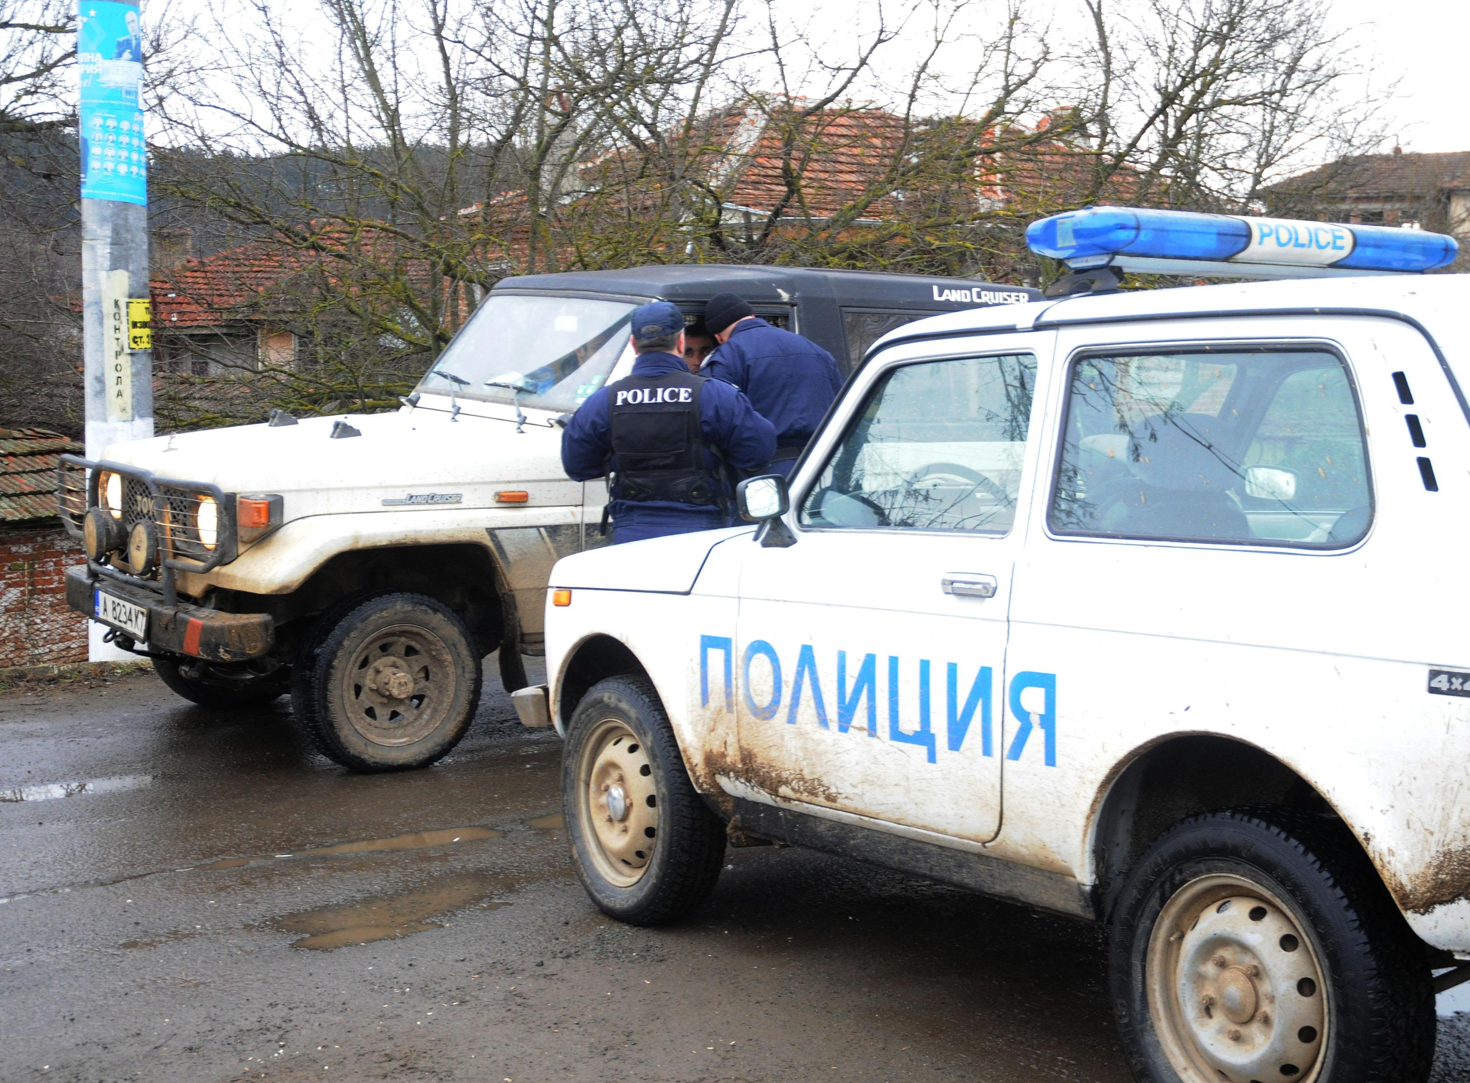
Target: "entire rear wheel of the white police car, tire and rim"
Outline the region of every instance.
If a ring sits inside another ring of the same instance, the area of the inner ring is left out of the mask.
[[[1424,948],[1326,817],[1238,808],[1172,827],[1120,889],[1110,971],[1139,1083],[1429,1076]]]

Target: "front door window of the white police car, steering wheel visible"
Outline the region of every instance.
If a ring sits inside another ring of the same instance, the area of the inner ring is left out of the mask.
[[[832,453],[801,523],[1005,533],[1016,519],[1035,378],[1029,356],[894,369]]]

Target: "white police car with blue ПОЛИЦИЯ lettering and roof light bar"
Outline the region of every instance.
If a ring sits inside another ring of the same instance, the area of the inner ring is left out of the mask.
[[[1470,977],[1470,284],[1367,272],[1454,241],[1030,238],[1083,292],[885,337],[757,528],[556,566],[578,874],[657,923],[728,839],[856,855],[1104,921],[1139,1080],[1423,1080]],[[1291,265],[1335,276],[1104,289]]]

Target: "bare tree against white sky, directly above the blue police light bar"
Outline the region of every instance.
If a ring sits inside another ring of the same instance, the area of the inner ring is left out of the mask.
[[[1382,98],[1339,91],[1357,68],[1324,0],[1080,1],[1083,201],[1122,185],[1154,206],[1248,209],[1282,170],[1380,138]]]

